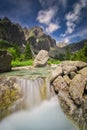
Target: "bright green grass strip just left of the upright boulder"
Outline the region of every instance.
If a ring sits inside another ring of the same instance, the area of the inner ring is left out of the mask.
[[[33,59],[27,61],[12,61],[12,67],[19,67],[19,66],[31,66],[33,65]]]

